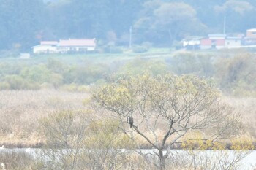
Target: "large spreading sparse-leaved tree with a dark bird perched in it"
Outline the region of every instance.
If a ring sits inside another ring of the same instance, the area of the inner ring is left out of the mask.
[[[194,76],[124,76],[99,88],[94,99],[118,117],[130,139],[140,136],[157,151],[159,169],[165,169],[170,147],[190,131],[214,141],[238,130],[238,115],[222,103],[219,90]]]

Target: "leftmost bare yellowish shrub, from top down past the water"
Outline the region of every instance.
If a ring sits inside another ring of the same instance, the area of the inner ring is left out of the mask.
[[[64,110],[40,120],[42,133],[47,139],[42,155],[48,169],[77,169],[89,112]]]

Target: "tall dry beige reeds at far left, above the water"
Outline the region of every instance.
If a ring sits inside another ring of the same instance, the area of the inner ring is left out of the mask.
[[[38,120],[63,109],[86,109],[86,93],[62,90],[0,91],[0,145],[39,147],[44,139],[39,134]]]

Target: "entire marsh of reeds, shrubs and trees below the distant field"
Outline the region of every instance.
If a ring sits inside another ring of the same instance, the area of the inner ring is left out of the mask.
[[[1,59],[0,145],[42,148],[37,158],[18,154],[23,166],[7,163],[16,153],[1,152],[1,162],[9,169],[219,169],[213,155],[197,162],[193,150],[222,150],[222,168],[238,169],[255,149],[253,53],[120,56]],[[141,150],[152,147],[154,156]],[[172,149],[191,158],[163,152]],[[226,149],[237,150],[233,161]]]

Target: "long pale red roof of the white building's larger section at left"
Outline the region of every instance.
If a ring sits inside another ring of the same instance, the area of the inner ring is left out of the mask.
[[[59,40],[60,47],[67,46],[96,46],[95,39],[60,39]]]

